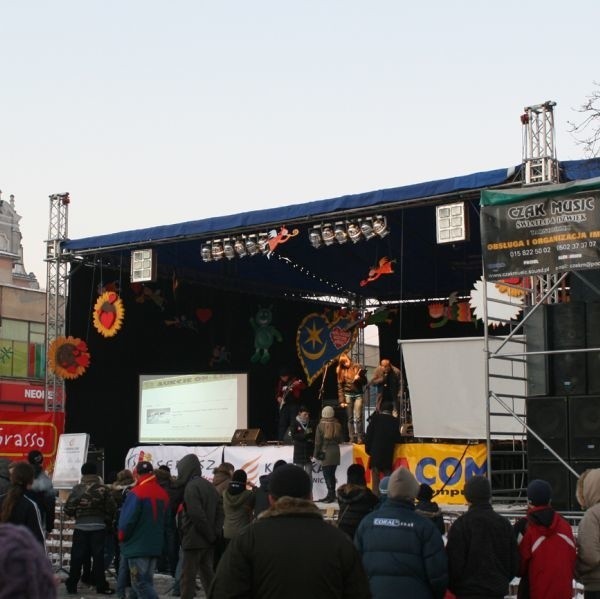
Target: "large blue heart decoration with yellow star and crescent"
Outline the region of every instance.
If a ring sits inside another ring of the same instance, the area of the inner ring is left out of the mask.
[[[354,325],[354,319],[340,312],[331,319],[314,312],[302,320],[296,333],[296,350],[309,385],[327,364],[350,350],[358,333]]]

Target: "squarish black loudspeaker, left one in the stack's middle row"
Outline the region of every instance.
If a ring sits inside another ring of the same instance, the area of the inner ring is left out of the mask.
[[[525,401],[527,424],[561,458],[569,456],[567,436],[567,399],[565,397],[528,397]],[[544,445],[527,431],[529,460],[555,460]]]

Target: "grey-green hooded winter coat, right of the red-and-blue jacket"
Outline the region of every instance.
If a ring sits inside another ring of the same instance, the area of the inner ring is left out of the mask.
[[[211,547],[223,530],[223,500],[214,485],[202,478],[196,454],[181,458],[177,471],[176,486],[184,487],[179,525],[181,547],[184,550]]]

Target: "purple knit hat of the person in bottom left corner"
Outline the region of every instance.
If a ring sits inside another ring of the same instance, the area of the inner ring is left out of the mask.
[[[0,599],[56,599],[58,580],[29,529],[0,524]]]

